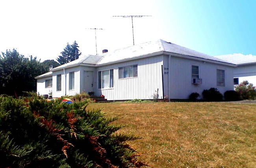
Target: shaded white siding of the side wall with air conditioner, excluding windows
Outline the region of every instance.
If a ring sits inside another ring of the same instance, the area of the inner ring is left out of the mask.
[[[191,82],[191,65],[199,66],[199,76],[202,78],[201,85],[193,85]],[[217,87],[217,68],[225,70],[225,87]],[[233,67],[171,57],[171,99],[188,99],[192,92],[197,92],[202,98],[202,91],[217,88],[222,94],[226,90],[234,89]]]

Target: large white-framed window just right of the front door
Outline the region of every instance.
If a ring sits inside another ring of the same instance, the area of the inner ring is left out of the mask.
[[[114,87],[114,70],[98,71],[98,89]]]

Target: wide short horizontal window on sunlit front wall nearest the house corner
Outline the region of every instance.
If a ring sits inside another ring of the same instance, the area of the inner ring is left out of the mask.
[[[119,79],[138,76],[138,65],[119,67]]]

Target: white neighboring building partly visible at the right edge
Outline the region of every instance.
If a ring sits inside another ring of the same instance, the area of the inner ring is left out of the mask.
[[[245,80],[256,85],[256,55],[228,54],[215,57],[237,65],[234,68],[234,85]]]

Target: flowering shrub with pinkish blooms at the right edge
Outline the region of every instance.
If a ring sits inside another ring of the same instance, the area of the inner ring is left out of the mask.
[[[236,86],[235,90],[240,94],[242,99],[245,100],[254,100],[256,99],[256,89],[252,83],[248,81],[243,81],[238,86]]]

